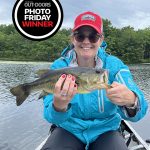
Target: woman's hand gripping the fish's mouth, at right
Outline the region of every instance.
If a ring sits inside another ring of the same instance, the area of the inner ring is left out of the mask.
[[[107,89],[107,97],[116,105],[133,106],[136,101],[136,95],[125,85],[118,82],[112,83],[112,88]]]

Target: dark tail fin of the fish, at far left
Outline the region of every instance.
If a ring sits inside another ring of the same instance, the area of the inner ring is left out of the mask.
[[[12,89],[10,89],[10,92],[16,96],[16,105],[21,105],[26,98],[30,94],[30,88],[28,88],[27,85],[18,85]]]

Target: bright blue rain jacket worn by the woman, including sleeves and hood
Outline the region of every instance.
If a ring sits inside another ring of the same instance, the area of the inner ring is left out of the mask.
[[[44,98],[45,119],[59,127],[62,127],[83,143],[87,144],[110,130],[117,130],[122,119],[136,122],[146,114],[147,102],[143,93],[134,83],[129,68],[123,62],[105,52],[106,43],[103,42],[98,50],[97,56],[102,60],[102,68],[109,70],[109,83],[117,81],[125,84],[138,97],[139,109],[134,117],[129,117],[124,107],[113,104],[106,96],[105,90],[94,90],[89,94],[76,94],[71,100],[71,107],[66,112],[57,112],[53,108],[53,95],[49,94]],[[54,61],[51,69],[58,69],[69,66],[73,59],[67,47],[62,52],[62,57]]]

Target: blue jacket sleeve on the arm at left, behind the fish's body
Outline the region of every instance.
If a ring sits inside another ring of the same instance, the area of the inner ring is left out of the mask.
[[[66,67],[64,62],[57,60],[51,65],[51,69]],[[60,65],[59,65],[60,64]],[[49,94],[43,98],[44,100],[44,118],[53,124],[61,124],[71,117],[72,109],[68,108],[66,112],[57,112],[53,107],[53,94]]]

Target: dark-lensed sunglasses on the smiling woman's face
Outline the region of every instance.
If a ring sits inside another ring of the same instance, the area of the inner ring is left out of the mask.
[[[102,37],[102,35],[98,33],[91,33],[89,35],[85,35],[83,33],[74,32],[73,35],[75,37],[75,40],[78,42],[83,42],[85,38],[88,38],[91,43],[96,43]]]

